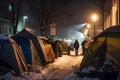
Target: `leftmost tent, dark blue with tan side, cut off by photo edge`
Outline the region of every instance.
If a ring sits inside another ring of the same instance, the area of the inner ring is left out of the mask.
[[[9,68],[17,73],[27,70],[25,58],[16,42],[0,34],[0,67]]]

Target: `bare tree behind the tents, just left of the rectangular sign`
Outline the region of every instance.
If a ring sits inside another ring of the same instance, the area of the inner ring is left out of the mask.
[[[48,1],[46,0],[31,0],[30,3],[31,9],[39,22],[41,36],[44,35],[44,26],[47,24],[49,18],[51,17],[54,0],[50,1],[50,5],[47,3]]]

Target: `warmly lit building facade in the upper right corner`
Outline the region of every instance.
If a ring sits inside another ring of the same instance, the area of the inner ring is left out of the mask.
[[[104,5],[104,29],[120,25],[120,0],[106,0]]]

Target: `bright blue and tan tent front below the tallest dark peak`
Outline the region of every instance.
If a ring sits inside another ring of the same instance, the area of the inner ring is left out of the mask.
[[[12,37],[22,48],[27,64],[41,65],[39,55],[31,40],[25,37]]]

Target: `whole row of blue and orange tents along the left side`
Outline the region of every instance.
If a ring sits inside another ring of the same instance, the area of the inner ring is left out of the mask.
[[[32,29],[25,28],[12,37],[0,35],[0,68],[21,73],[28,70],[27,64],[44,66],[54,61],[51,42],[36,36]]]

